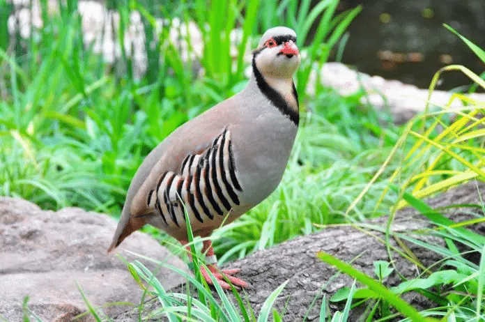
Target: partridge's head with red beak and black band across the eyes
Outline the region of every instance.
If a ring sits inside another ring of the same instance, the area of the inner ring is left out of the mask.
[[[254,50],[253,59],[262,75],[291,78],[301,61],[295,31],[284,26],[268,29]]]

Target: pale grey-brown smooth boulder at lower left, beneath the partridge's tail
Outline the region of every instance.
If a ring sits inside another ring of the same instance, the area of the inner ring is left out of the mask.
[[[70,321],[86,310],[76,283],[93,306],[109,302],[137,305],[142,291],[120,259],[107,254],[116,220],[80,208],[43,211],[29,201],[0,197],[0,316],[22,320],[22,301],[43,321]],[[171,270],[126,252],[142,254],[187,269],[156,240],[133,233],[119,247],[128,261],[139,260],[167,289],[183,282]],[[112,316],[127,309],[104,309]],[[86,316],[84,321],[90,321]]]

